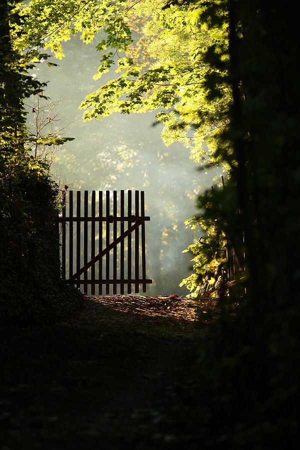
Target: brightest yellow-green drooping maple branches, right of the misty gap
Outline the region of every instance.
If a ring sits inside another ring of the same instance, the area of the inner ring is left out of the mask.
[[[199,3],[171,9],[161,9],[160,0],[132,5],[123,18],[128,16],[140,38],[129,49],[123,46],[126,57],[118,59],[115,69],[121,75],[87,95],[81,104],[87,108],[83,117],[163,108],[156,117],[164,124],[165,144],[179,140],[196,162],[209,155],[217,163],[215,149],[227,124],[231,95],[225,79],[228,37],[224,30],[202,25]],[[213,70],[207,63],[210,53],[218,58]],[[102,55],[96,78],[114,63],[112,56]]]

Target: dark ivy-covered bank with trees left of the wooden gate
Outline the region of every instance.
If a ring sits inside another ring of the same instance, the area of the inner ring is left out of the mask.
[[[42,96],[30,76],[33,56],[14,47],[18,1],[0,1],[0,322],[52,322],[81,301],[60,279],[54,226],[58,186],[47,161],[30,155],[24,99]]]

